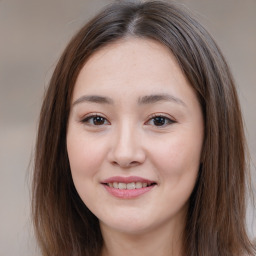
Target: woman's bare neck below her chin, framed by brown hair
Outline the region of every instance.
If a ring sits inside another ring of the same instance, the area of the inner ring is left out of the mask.
[[[101,224],[104,245],[102,256],[182,256],[182,233],[184,227],[170,227],[127,234]]]

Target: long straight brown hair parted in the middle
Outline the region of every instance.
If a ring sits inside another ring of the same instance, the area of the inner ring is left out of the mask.
[[[184,9],[163,1],[107,6],[70,41],[50,80],[40,114],[32,215],[44,256],[100,255],[96,216],[80,199],[66,147],[72,92],[86,60],[127,37],[170,49],[194,89],[204,115],[201,166],[189,199],[184,255],[253,255],[245,228],[246,144],[234,81],[218,46]]]

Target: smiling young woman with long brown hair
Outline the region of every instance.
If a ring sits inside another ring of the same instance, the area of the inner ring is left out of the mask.
[[[108,6],[71,40],[41,110],[43,255],[253,255],[229,68],[190,14]]]

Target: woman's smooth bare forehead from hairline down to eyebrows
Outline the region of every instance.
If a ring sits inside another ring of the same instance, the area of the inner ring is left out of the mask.
[[[80,71],[73,101],[82,94],[193,94],[170,49],[141,38],[126,38],[96,51]],[[114,95],[113,95],[114,94]]]

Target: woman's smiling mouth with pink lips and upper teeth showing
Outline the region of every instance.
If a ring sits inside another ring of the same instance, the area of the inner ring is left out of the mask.
[[[112,177],[101,184],[111,195],[122,199],[136,198],[157,185],[155,181],[135,176]]]

